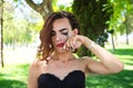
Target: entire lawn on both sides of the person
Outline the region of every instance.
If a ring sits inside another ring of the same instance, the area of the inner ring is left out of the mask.
[[[111,46],[106,48],[113,53]],[[123,72],[114,75],[89,75],[86,88],[133,88],[133,45],[121,45],[115,53],[125,65]],[[4,51],[4,68],[0,68],[0,88],[27,88],[29,64],[34,50]]]

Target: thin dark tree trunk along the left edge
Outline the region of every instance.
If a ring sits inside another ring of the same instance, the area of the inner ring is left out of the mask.
[[[2,15],[3,14],[3,1],[0,1],[0,57],[1,57],[1,66],[3,67],[3,44],[2,44],[2,23],[3,23],[3,19]]]

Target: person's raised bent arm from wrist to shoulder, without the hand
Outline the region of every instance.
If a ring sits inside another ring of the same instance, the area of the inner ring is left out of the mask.
[[[113,74],[119,73],[124,68],[124,65],[110,52],[104,50],[98,44],[94,44],[90,38],[83,36],[83,45],[86,48],[90,48],[92,53],[95,54],[95,56],[100,59],[100,62],[96,62],[94,59],[90,59],[89,57],[85,57],[86,68],[91,69],[94,73],[98,74]],[[91,45],[91,46],[90,46]]]

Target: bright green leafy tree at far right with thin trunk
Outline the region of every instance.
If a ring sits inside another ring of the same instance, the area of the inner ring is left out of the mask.
[[[133,15],[133,1],[132,0],[110,0],[113,6],[113,15],[110,20],[110,30],[115,30],[116,33],[126,34],[126,44],[129,44],[129,33],[132,32],[132,15]]]

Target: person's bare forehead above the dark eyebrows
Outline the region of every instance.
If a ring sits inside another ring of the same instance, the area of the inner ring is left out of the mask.
[[[53,31],[60,31],[62,29],[71,30],[71,24],[66,18],[58,19],[53,22]]]

